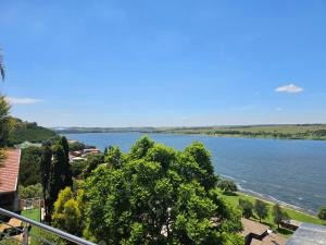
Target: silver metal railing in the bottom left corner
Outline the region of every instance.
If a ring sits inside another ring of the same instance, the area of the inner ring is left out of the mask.
[[[80,238],[78,236],[75,236],[75,235],[72,235],[72,234],[68,234],[66,232],[63,232],[61,230],[58,230],[55,228],[51,228],[49,225],[46,225],[43,223],[39,223],[37,221],[34,221],[34,220],[30,220],[28,218],[25,218],[25,217],[22,217],[17,213],[14,213],[14,212],[11,212],[11,211],[8,211],[5,209],[2,209],[0,208],[0,215],[3,215],[3,216],[7,216],[9,218],[15,218],[30,226],[36,226],[36,228],[39,228],[41,229],[42,231],[46,231],[46,232],[49,232],[50,234],[53,234],[53,235],[57,235],[65,241],[68,241],[68,242],[72,242],[72,243],[75,243],[75,244],[79,244],[79,245],[96,245],[95,243],[91,243],[91,242],[88,242],[84,238]],[[3,222],[2,222],[3,223]],[[0,222],[1,224],[1,222]],[[8,225],[8,224],[7,224]],[[29,237],[33,236],[30,233],[29,233],[29,229],[27,226],[25,226],[24,229],[20,229],[20,228],[14,228],[14,226],[11,226],[11,225],[8,225],[12,229],[14,229],[18,234],[21,234],[23,237],[21,241],[18,240],[15,240],[15,237],[11,236],[11,235],[8,235],[5,233],[0,233],[0,244],[9,244],[9,243],[5,243],[3,242],[3,238],[1,240],[1,237],[5,237],[5,240],[11,240],[11,241],[14,241],[15,244],[24,244],[24,245],[28,245],[29,244]],[[41,241],[43,244],[49,244],[49,245],[55,245],[55,243],[53,242],[49,242],[47,241],[46,238],[42,238],[40,236],[36,236],[37,240]]]

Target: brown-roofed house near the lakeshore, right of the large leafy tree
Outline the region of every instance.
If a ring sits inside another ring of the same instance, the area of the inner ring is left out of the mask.
[[[267,225],[249,220],[241,219],[246,245],[285,245],[286,240],[275,234]]]

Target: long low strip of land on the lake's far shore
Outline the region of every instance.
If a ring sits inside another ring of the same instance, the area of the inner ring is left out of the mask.
[[[170,133],[204,134],[220,137],[326,140],[326,124],[243,125],[201,127],[64,127],[58,133]]]

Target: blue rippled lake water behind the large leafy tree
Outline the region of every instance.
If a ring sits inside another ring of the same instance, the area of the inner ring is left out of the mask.
[[[89,133],[66,137],[102,150],[117,145],[127,151],[141,135]],[[246,192],[313,212],[326,205],[326,142],[148,135],[176,149],[202,142],[212,154],[216,173],[233,179]]]

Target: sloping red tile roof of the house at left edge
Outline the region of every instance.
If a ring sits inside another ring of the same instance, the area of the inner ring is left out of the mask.
[[[0,194],[12,193],[17,189],[21,163],[21,150],[5,150],[5,159],[0,167]]]

